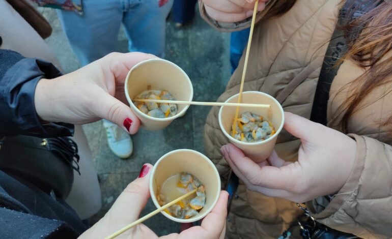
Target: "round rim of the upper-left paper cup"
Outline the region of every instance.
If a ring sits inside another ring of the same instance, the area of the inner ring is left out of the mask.
[[[133,110],[137,110],[139,113],[141,113],[141,114],[142,114],[143,116],[145,116],[146,118],[151,119],[151,120],[153,120],[153,121],[158,121],[158,122],[173,121],[174,119],[176,119],[176,118],[180,117],[181,115],[183,115],[183,114],[188,110],[188,108],[190,107],[190,105],[185,105],[185,107],[184,107],[181,111],[177,112],[176,115],[173,115],[173,116],[170,116],[170,117],[167,117],[167,118],[155,118],[155,117],[152,117],[152,116],[150,116],[150,115],[148,115],[148,114],[145,114],[145,113],[143,113],[141,110],[139,110],[139,109],[133,104],[132,99],[129,97],[128,87],[127,87],[128,82],[129,82],[129,76],[131,75],[131,73],[132,73],[137,67],[139,67],[139,66],[141,66],[141,65],[144,65],[144,64],[146,64],[146,63],[149,63],[149,62],[165,62],[165,63],[168,63],[168,64],[174,66],[174,67],[177,68],[178,70],[180,70],[180,71],[186,76],[186,80],[188,81],[188,83],[189,83],[189,85],[190,85],[190,95],[189,95],[189,100],[188,100],[188,101],[192,101],[192,99],[193,99],[193,85],[192,85],[192,81],[189,79],[189,76],[185,73],[184,70],[181,69],[181,67],[177,66],[176,64],[174,64],[174,63],[172,63],[172,62],[170,62],[170,61],[167,61],[167,60],[161,59],[161,58],[146,59],[145,61],[142,61],[142,62],[137,63],[136,65],[134,65],[134,66],[129,70],[129,72],[128,72],[126,78],[125,78],[125,83],[124,83],[125,97],[127,98],[127,101],[128,101],[128,103],[129,103],[129,106],[130,106]]]

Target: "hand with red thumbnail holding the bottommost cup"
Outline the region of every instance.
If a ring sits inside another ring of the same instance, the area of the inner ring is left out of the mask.
[[[136,221],[150,197],[151,169],[151,164],[145,164],[139,177],[127,186],[106,215],[80,238],[103,238]],[[225,237],[228,196],[227,192],[220,193],[217,204],[204,218],[201,226],[194,226],[180,234],[173,233],[162,238],[216,239]],[[158,236],[147,226],[138,224],[118,238],[158,238]]]

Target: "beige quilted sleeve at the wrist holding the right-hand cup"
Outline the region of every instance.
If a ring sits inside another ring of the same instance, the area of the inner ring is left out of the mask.
[[[343,188],[319,212],[317,200],[307,203],[321,223],[362,238],[392,237],[392,146],[350,135],[357,142],[354,167]]]

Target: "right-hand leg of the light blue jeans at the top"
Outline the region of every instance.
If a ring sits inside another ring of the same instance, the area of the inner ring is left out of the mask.
[[[128,0],[123,18],[129,51],[164,56],[166,17],[173,0]],[[162,5],[163,4],[163,5]]]

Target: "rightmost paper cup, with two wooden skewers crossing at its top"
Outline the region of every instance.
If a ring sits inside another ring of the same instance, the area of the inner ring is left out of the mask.
[[[226,102],[237,103],[238,95],[230,97]],[[263,116],[271,122],[276,133],[269,139],[259,142],[242,142],[231,136],[232,125],[236,113],[236,107],[222,106],[219,110],[219,126],[230,142],[239,147],[244,154],[259,163],[266,160],[273,151],[275,142],[285,123],[283,108],[275,98],[262,92],[244,92],[242,93],[242,103],[248,104],[269,104],[270,108],[260,107],[240,107],[238,117],[246,111]]]

